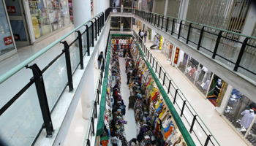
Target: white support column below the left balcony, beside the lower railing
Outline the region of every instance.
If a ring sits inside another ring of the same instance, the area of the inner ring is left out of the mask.
[[[81,95],[82,117],[86,120],[90,118],[91,107],[94,106],[94,68],[93,64],[88,66],[86,85],[84,85]]]

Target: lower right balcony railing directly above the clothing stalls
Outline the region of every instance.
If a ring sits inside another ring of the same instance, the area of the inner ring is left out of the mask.
[[[159,80],[162,83],[169,99],[172,100],[173,105],[176,105],[176,111],[183,120],[184,126],[187,131],[195,137],[194,142],[196,145],[219,145],[217,139],[211,134],[211,131],[207,128],[203,120],[197,115],[197,112],[193,109],[192,105],[186,99],[184,94],[178,88],[178,86],[173,82],[170,75],[165,71],[164,67],[157,61],[157,58],[148,50],[146,45],[144,45],[143,40],[138,37],[138,34],[133,31],[133,36],[138,40],[141,50],[145,54],[148,63],[151,65],[152,69],[155,69],[156,74],[158,74]],[[196,141],[197,140],[197,141]]]

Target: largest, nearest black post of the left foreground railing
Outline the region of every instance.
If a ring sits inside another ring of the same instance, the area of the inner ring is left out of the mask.
[[[47,100],[47,95],[45,92],[45,83],[42,76],[42,71],[39,69],[37,64],[33,64],[29,66],[29,69],[32,69],[33,76],[34,76],[34,83],[37,89],[37,96],[39,100],[39,105],[42,112],[42,118],[44,120],[44,128],[46,130],[46,137],[53,136],[53,123],[50,118],[50,110]]]

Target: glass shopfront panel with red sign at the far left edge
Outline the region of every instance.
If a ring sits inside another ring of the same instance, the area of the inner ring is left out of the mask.
[[[3,1],[0,1],[0,61],[10,57],[17,53],[14,38],[12,35],[12,29],[10,27],[10,20],[7,17],[7,11],[5,9]]]

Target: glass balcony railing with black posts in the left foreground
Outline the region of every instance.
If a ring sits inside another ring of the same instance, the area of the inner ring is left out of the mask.
[[[12,137],[15,141],[22,135],[26,140],[19,145],[34,145],[43,128],[47,137],[53,136],[51,113],[61,95],[74,90],[74,73],[79,66],[84,68],[83,59],[91,57],[90,49],[104,26],[104,13],[100,13],[0,76],[1,140],[15,143]],[[48,61],[48,50],[59,53]]]

